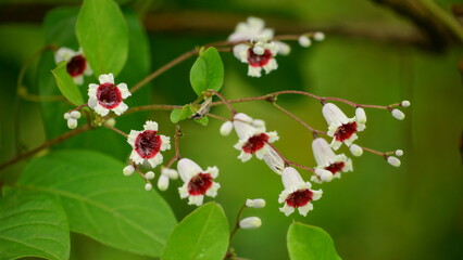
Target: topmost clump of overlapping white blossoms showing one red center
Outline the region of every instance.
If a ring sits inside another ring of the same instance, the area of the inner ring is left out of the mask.
[[[239,23],[229,37],[229,41],[249,41],[234,47],[235,56],[242,63],[248,63],[248,76],[261,77],[261,70],[266,74],[278,67],[277,54],[287,55],[290,52],[288,44],[281,41],[272,41],[273,29],[265,28],[261,18],[249,17],[246,23]]]

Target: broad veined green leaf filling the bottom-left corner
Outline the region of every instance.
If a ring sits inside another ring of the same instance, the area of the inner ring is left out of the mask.
[[[68,259],[67,220],[53,198],[15,194],[0,199],[0,259],[23,257]]]

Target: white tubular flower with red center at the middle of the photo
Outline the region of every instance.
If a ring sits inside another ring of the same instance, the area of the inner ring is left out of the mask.
[[[264,121],[253,120],[246,114],[236,114],[233,123],[239,138],[235,148],[241,151],[238,158],[242,162],[249,160],[253,154],[259,159],[263,159],[270,153],[270,148],[272,148],[268,144],[278,140],[276,131],[265,131]]]

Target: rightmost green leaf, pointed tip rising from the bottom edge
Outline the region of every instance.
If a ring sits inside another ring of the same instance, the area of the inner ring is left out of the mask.
[[[317,226],[292,223],[287,244],[291,260],[341,259],[329,234]]]

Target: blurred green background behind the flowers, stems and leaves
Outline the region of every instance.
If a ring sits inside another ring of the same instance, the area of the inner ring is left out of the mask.
[[[2,1],[4,6],[30,1]],[[124,6],[145,10],[143,1],[120,1]],[[437,1],[442,8],[459,1]],[[75,1],[40,1],[40,4],[76,4]],[[78,2],[77,2],[78,3]],[[393,31],[409,35],[414,25],[387,8],[366,0],[349,1],[151,1],[145,10],[148,42],[151,55],[139,58],[146,67],[126,72],[124,77],[142,78],[149,72],[196,46],[226,39],[234,25],[249,15],[266,18],[268,27],[277,34],[302,28],[333,28],[348,26],[360,30]],[[1,8],[2,5],[0,5]],[[48,6],[48,5],[47,5]],[[15,153],[15,139],[24,148],[32,148],[46,140],[40,105],[22,101],[21,136],[15,135],[14,113],[16,79],[21,66],[46,39],[41,18],[27,16],[34,10],[24,9],[24,17],[1,17],[0,24],[0,160]],[[3,12],[4,14],[4,12]],[[37,16],[37,14],[36,14]],[[29,21],[33,20],[33,21]],[[9,22],[10,21],[10,22]],[[155,23],[153,23],[153,21]],[[280,23],[284,22],[284,23]],[[189,25],[191,26],[185,26]],[[295,25],[295,26],[292,26]],[[392,35],[393,35],[392,34]],[[183,122],[186,133],[180,140],[184,157],[202,167],[217,166],[222,185],[216,202],[222,204],[230,221],[247,198],[262,197],[264,209],[249,209],[245,216],[258,216],[263,220],[259,230],[239,231],[233,247],[239,257],[247,259],[288,259],[286,232],[289,223],[301,221],[326,230],[335,240],[343,259],[461,259],[463,255],[463,167],[460,145],[463,129],[463,89],[458,70],[462,57],[461,44],[443,51],[420,49],[406,41],[388,37],[365,37],[367,34],[327,34],[324,42],[302,49],[291,42],[289,56],[278,56],[279,68],[260,79],[248,77],[247,67],[230,53],[223,53],[225,84],[223,94],[228,99],[261,95],[276,90],[296,89],[325,96],[345,98],[363,104],[388,105],[410,100],[412,106],[403,108],[404,121],[395,119],[385,110],[367,109],[367,128],[361,132],[359,144],[381,152],[402,148],[402,166],[393,168],[383,158],[365,153],[353,158],[354,171],[342,179],[323,185],[324,195],[314,203],[314,210],[303,218],[285,217],[278,211],[278,194],[283,190],[280,178],[255,158],[241,164],[233,148],[235,135],[218,134],[221,121],[210,120],[204,128],[195,122]],[[195,100],[189,87],[188,73],[193,60],[168,70],[139,96],[141,104],[183,105]],[[151,68],[149,68],[151,67]],[[25,86],[37,93],[37,72],[48,69],[35,66],[27,70]],[[127,82],[129,84],[136,83]],[[309,98],[280,96],[278,103],[304,119],[309,125],[326,128],[321,105]],[[268,130],[277,130],[280,140],[275,145],[284,155],[297,162],[314,166],[312,136],[304,128],[265,102],[237,104],[239,112],[264,119]],[[353,108],[341,106],[348,115]],[[63,114],[62,110],[58,112]],[[214,114],[227,117],[225,107],[214,108]],[[128,132],[141,129],[147,118],[160,123],[163,134],[173,135],[170,113],[141,113],[129,119],[121,118],[117,126]],[[130,119],[132,118],[132,119]],[[125,121],[124,121],[125,120]],[[65,121],[57,120],[48,128],[63,128]],[[88,135],[99,134],[108,143],[82,142]],[[118,135],[100,129],[62,147],[87,147],[103,151],[124,160],[130,147]],[[113,146],[116,145],[116,146]],[[117,147],[117,148],[114,148]],[[118,148],[121,147],[121,148]],[[345,147],[343,153],[349,153]],[[173,151],[165,153],[170,158]],[[12,182],[25,162],[5,170],[5,182]],[[300,171],[309,179],[306,172]],[[141,180],[140,180],[141,182]],[[177,219],[193,210],[180,200],[171,183],[163,193],[172,205]],[[141,188],[141,185],[140,185]],[[149,218],[149,216],[147,216]],[[230,225],[234,223],[232,222]],[[155,229],[155,225],[152,226]],[[82,235],[72,236],[72,259],[122,260],[145,259],[109,248]]]

